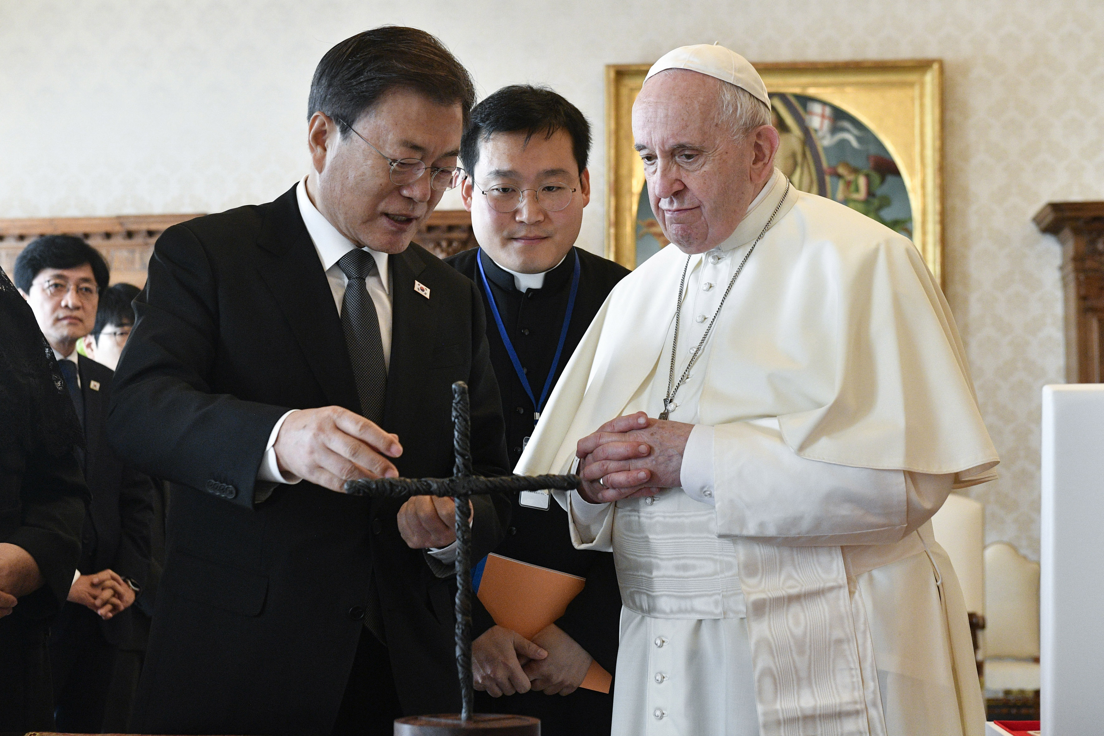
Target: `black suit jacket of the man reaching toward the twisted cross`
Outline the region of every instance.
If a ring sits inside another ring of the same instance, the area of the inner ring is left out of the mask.
[[[453,472],[452,384],[471,399],[477,474],[507,472],[498,387],[475,287],[422,247],[391,256],[383,428],[405,477]],[[431,290],[414,290],[417,279]],[[326,275],[296,202],[167,230],[116,374],[119,452],[172,483],[168,551],[132,727],[141,733],[328,734],[360,637],[369,578],[407,713],[459,707],[455,583],[402,541],[397,500],[306,481],[254,502],[257,468],[290,408],[359,410]],[[474,499],[473,552],[509,519]]]

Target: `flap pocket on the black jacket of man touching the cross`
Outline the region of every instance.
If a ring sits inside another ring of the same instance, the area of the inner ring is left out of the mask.
[[[181,551],[166,566],[161,587],[177,588],[189,600],[232,614],[258,616],[268,593],[268,578]]]

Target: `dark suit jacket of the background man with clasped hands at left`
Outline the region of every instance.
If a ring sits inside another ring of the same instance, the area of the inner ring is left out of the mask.
[[[107,409],[114,372],[79,355],[81,394],[84,396],[84,477],[92,505],[84,520],[77,569],[92,575],[110,568],[145,587],[150,573],[150,525],[153,520],[153,483],[124,462],[107,441]],[[76,606],[76,604],[73,604]],[[135,612],[128,608],[100,630],[108,643],[120,646],[131,637]],[[62,617],[55,628],[65,626]]]

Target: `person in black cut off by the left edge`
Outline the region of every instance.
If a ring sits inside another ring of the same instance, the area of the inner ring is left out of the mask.
[[[53,727],[46,627],[81,553],[83,445],[53,351],[0,269],[0,730]]]

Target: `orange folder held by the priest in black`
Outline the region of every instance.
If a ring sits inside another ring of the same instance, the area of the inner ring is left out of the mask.
[[[478,596],[495,623],[532,639],[563,616],[567,604],[583,591],[584,585],[586,578],[577,575],[490,554],[484,566]],[[592,661],[580,686],[608,693],[612,682],[613,675],[597,661]]]

